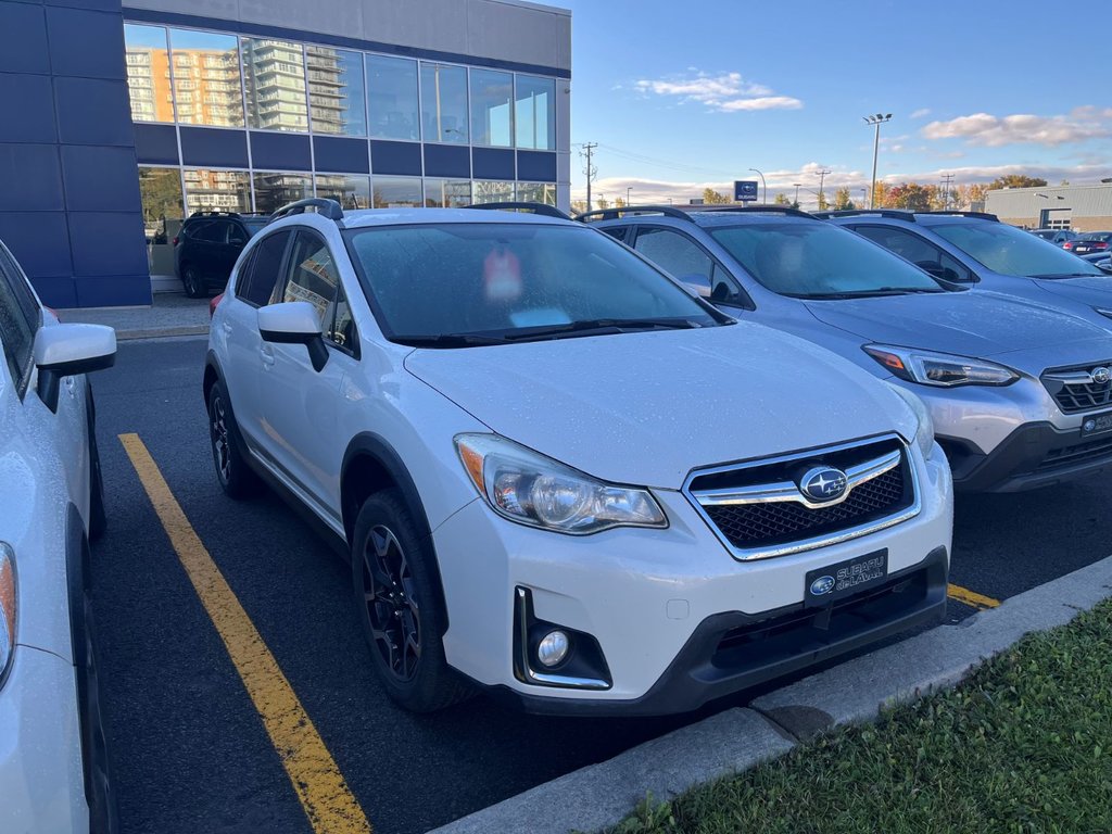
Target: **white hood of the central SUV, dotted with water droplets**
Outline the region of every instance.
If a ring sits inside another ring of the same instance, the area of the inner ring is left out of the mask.
[[[915,433],[911,409],[871,375],[748,322],[419,349],[405,367],[499,435],[652,487],[679,488],[696,467]]]

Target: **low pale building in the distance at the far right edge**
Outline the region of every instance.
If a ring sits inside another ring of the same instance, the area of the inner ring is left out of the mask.
[[[1109,231],[1112,182],[993,189],[985,196],[984,210],[1029,229]]]

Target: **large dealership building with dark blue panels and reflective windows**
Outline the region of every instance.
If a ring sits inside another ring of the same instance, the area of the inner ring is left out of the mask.
[[[0,0],[0,240],[146,305],[195,211],[567,208],[570,44],[520,0]]]

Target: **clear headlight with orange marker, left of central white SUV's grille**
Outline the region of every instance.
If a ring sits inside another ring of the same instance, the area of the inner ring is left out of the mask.
[[[496,435],[458,435],[464,469],[496,513],[558,533],[666,527],[647,489],[606,484]]]

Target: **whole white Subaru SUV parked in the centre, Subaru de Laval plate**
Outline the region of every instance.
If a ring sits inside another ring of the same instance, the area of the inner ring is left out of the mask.
[[[539,210],[279,210],[203,386],[221,486],[278,485],[350,554],[409,709],[689,711],[945,605],[913,395]]]

